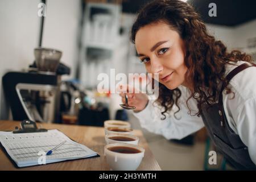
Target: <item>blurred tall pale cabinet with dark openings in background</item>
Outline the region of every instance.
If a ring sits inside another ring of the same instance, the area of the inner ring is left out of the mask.
[[[86,3],[79,67],[80,81],[86,88],[96,88],[98,74],[110,71],[120,15],[118,4]]]

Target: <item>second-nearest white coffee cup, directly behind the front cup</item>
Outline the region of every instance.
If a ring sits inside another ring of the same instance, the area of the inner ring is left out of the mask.
[[[131,138],[133,140],[127,141],[127,140],[118,140],[114,139],[116,137],[126,137],[126,138]],[[139,138],[135,137],[134,135],[126,135],[126,134],[109,134],[106,135],[106,144],[111,144],[111,143],[127,143],[127,144],[137,144],[139,142]]]

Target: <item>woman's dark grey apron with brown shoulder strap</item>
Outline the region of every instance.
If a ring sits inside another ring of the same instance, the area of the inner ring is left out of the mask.
[[[256,65],[253,63],[244,63],[233,69],[226,76],[228,82],[237,75],[237,73],[249,67],[256,67]],[[239,135],[234,133],[234,131],[229,127],[222,103],[223,90],[224,85],[222,84],[217,104],[210,106],[207,104],[202,105],[201,116],[203,118],[204,125],[217,150],[224,155],[226,160],[228,160],[233,167],[240,170],[255,170],[256,166],[249,156],[248,148],[243,144]]]

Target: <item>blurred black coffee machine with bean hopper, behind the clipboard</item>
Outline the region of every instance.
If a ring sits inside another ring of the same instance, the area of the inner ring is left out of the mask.
[[[5,97],[16,121],[58,122],[61,75],[69,75],[70,68],[60,63],[62,52],[56,49],[39,47],[34,54],[28,71],[3,76]]]

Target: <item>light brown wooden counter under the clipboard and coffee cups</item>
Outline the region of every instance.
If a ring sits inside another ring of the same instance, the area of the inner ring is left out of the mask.
[[[15,126],[19,126],[20,122],[0,121],[0,131],[12,131]],[[39,126],[39,125],[38,125]],[[54,164],[46,164],[34,167],[15,168],[10,159],[0,150],[0,170],[109,170],[104,156],[105,133],[103,127],[78,126],[78,125],[62,125],[42,123],[42,127],[46,129],[58,129],[69,138],[78,143],[84,144],[93,151],[97,152],[100,157],[91,159],[79,159],[67,162],[59,162]],[[134,130],[134,134],[139,137],[139,146],[145,149],[144,158],[138,170],[161,170],[158,162],[156,162],[152,152],[148,148],[146,139],[143,137],[141,130]]]

